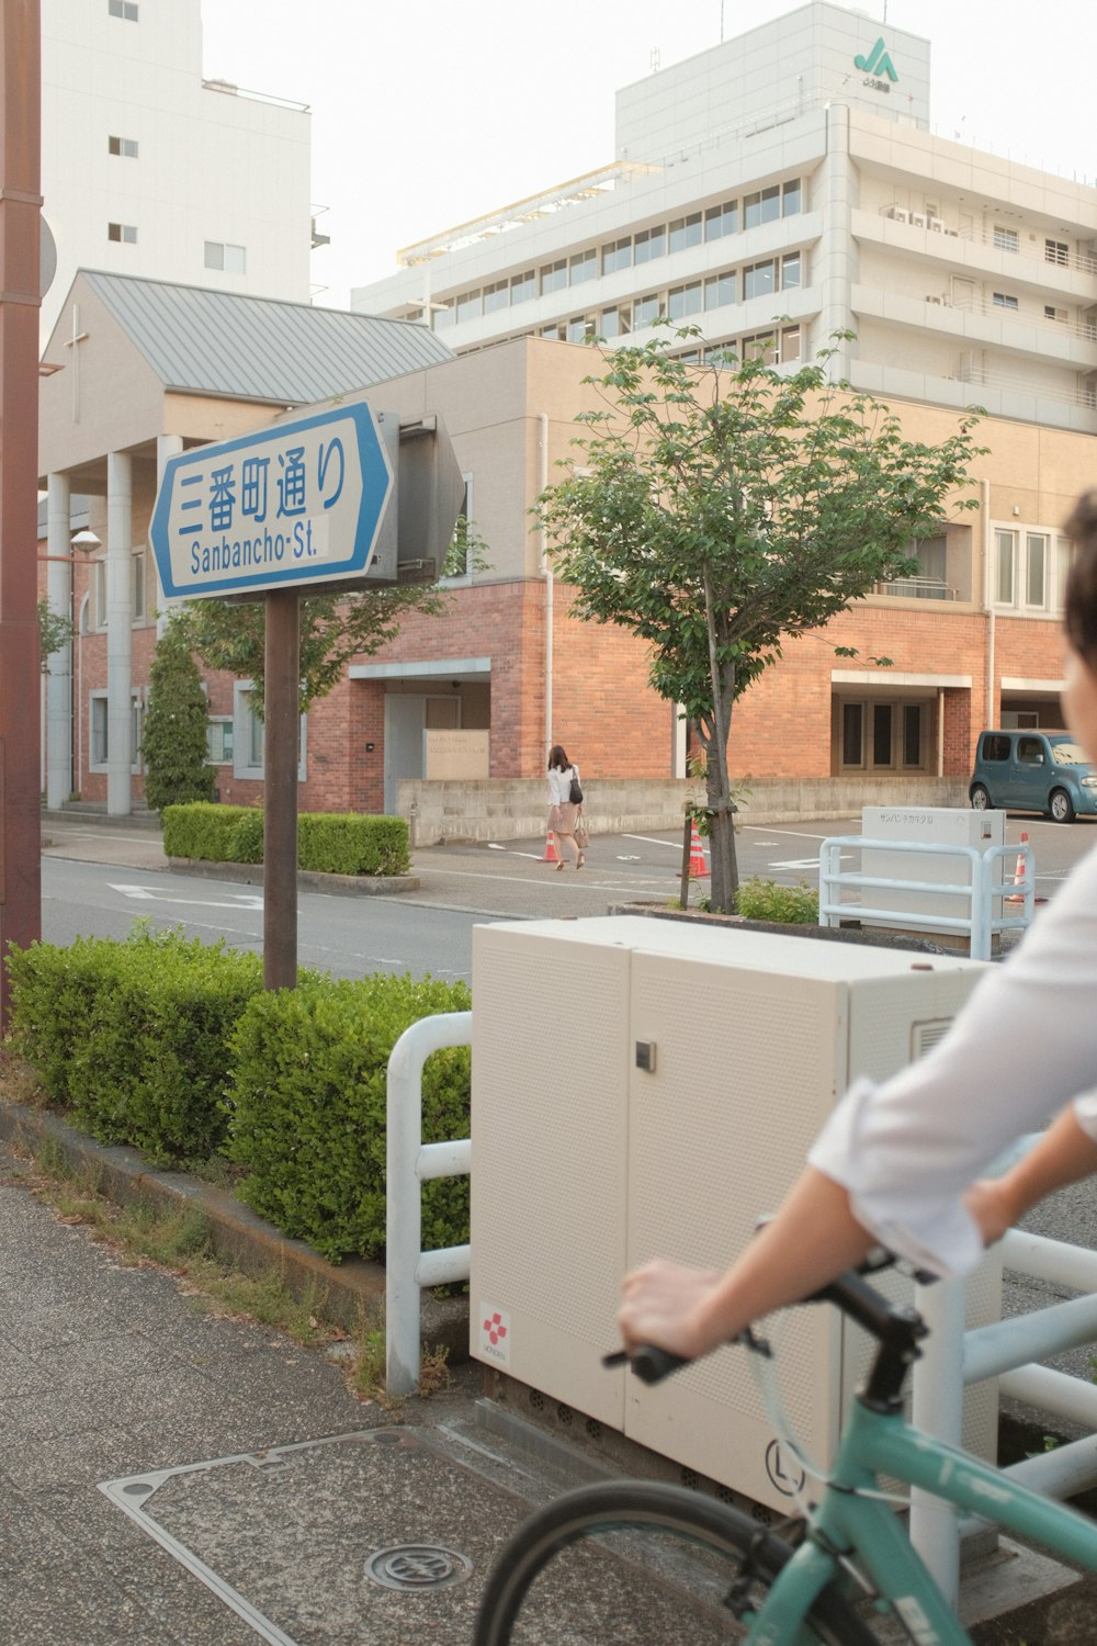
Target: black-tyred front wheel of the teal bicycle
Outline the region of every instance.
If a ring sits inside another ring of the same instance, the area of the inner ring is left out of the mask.
[[[581,1486],[523,1521],[503,1547],[477,1611],[474,1646],[742,1639],[791,1555],[780,1537],[684,1486]],[[877,1636],[827,1585],[798,1639],[873,1646]]]

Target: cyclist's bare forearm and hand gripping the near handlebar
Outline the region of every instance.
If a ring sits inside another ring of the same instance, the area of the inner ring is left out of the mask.
[[[847,1190],[808,1167],[725,1274],[656,1259],[625,1276],[617,1317],[625,1346],[655,1343],[696,1360],[752,1320],[826,1286],[875,1244]]]

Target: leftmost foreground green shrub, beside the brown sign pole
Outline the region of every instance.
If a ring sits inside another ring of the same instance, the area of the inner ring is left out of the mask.
[[[130,938],[12,948],[12,1042],[100,1142],[158,1162],[225,1134],[227,1040],[263,986],[258,956],[138,925]]]

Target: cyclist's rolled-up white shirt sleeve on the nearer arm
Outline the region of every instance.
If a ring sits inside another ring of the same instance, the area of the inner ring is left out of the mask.
[[[928,1057],[850,1086],[809,1160],[885,1246],[964,1274],[982,1256],[964,1190],[1071,1100],[1097,1137],[1097,848]]]

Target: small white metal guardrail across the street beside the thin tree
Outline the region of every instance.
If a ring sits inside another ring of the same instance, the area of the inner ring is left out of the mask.
[[[842,853],[849,851],[903,851],[919,856],[960,858],[969,864],[969,877],[962,884],[937,881],[900,881],[880,874],[862,874],[842,869]],[[1025,863],[1023,879],[995,884],[995,864],[1002,858],[1020,858]],[[834,835],[819,848],[819,925],[835,927],[842,920],[863,920],[868,925],[903,927],[918,932],[957,932],[969,940],[972,960],[990,960],[992,940],[998,932],[1020,930],[1033,918],[1036,886],[1035,853],[1028,841],[1020,846],[952,846],[928,841],[865,839],[863,835]],[[957,900],[956,915],[916,914],[905,909],[875,907],[867,902],[844,902],[844,890],[867,892],[933,892]],[[1020,897],[1016,912],[1007,909],[1005,899]]]

